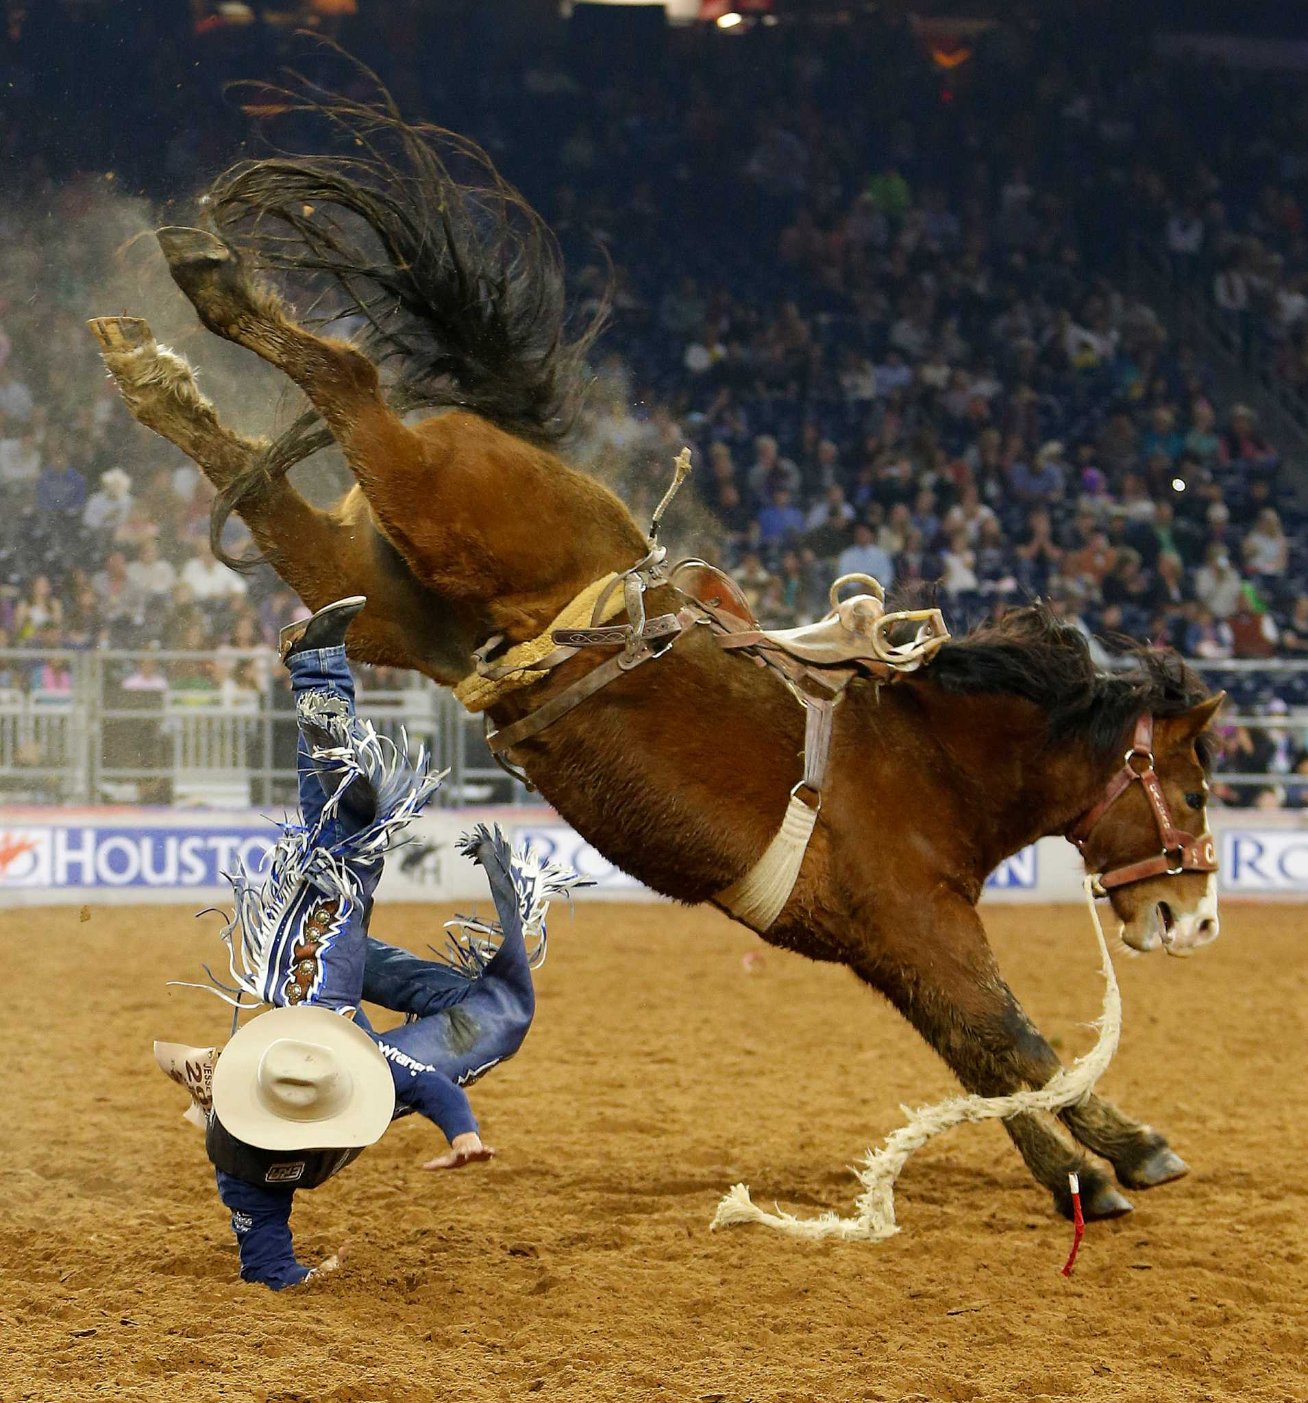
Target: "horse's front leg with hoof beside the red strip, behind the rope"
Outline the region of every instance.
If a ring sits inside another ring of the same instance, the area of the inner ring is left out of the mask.
[[[856,974],[890,999],[968,1092],[1009,1096],[1044,1086],[1060,1069],[1057,1054],[999,978],[981,920],[961,897],[880,901],[876,930],[884,937],[865,941],[853,962]],[[1086,1218],[1131,1211],[1109,1176],[1089,1164],[1051,1120],[1022,1114],[1003,1128],[1065,1216],[1072,1214],[1068,1174],[1074,1173]]]

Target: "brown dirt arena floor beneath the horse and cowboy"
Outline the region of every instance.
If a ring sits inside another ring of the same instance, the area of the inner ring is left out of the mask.
[[[88,919],[79,919],[79,915]],[[432,908],[379,911],[422,948]],[[1100,985],[1085,915],[991,909],[1002,967],[1065,1056]],[[185,1099],[150,1041],[222,1041],[213,958],[175,908],[0,912],[0,1400],[803,1403],[1308,1400],[1308,929],[1228,906],[1194,960],[1119,960],[1103,1089],[1187,1180],[1071,1242],[996,1125],[900,1181],[902,1232],[810,1246],[709,1232],[720,1193],[848,1211],[842,1166],[954,1087],[842,969],[707,911],[552,922],[522,1054],[473,1093],[490,1166],[428,1174],[404,1121],[295,1212],[335,1275],[243,1287]],[[752,971],[747,951],[762,951]]]

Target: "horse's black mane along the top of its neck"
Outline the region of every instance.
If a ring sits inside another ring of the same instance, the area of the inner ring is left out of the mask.
[[[1048,717],[1051,744],[1083,738],[1095,751],[1123,746],[1142,711],[1177,716],[1208,696],[1175,652],[1124,638],[1113,644],[1123,669],[1102,672],[1078,629],[1060,623],[1044,605],[1030,605],[945,644],[923,675],[963,696],[1023,697]],[[1207,766],[1203,749],[1200,759]]]

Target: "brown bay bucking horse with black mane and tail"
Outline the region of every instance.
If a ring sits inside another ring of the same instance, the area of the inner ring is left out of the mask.
[[[589,333],[567,338],[545,224],[449,133],[385,105],[306,109],[345,133],[345,154],[243,163],[211,192],[209,230],[164,229],[159,241],[203,325],[285,372],[320,418],[272,443],[243,438],[143,321],[93,328],[136,418],[218,487],[216,549],[234,509],[310,609],[368,596],[352,657],[453,686],[488,638],[535,638],[596,578],[644,556],[646,536],[556,453]],[[264,271],[326,286],[337,310],[361,318],[358,341],[299,324]],[[422,407],[443,412],[410,422]],[[328,435],[356,485],[317,509],[286,470]],[[651,593],[653,612],[676,607],[671,589]],[[491,720],[518,721],[595,665],[580,652],[498,702]],[[1201,732],[1220,700],[1148,651],[1127,672],[1096,673],[1085,641],[1039,607],[946,644],[893,686],[853,682],[799,881],[765,939],[848,965],[970,1092],[1044,1085],[1058,1059],[999,975],[977,913],[982,884],[1095,810],[1141,717],[1154,723],[1155,797],[1176,825],[1166,832],[1204,833]],[[608,859],[703,902],[768,847],[803,751],[804,713],[785,683],[699,629],[511,758]],[[1142,751],[1131,763],[1145,766]],[[1083,843],[1090,871],[1159,853],[1148,786],[1119,787]],[[1149,870],[1110,899],[1127,943],[1184,953],[1217,934],[1211,887],[1204,871]],[[1186,1172],[1162,1135],[1097,1096],[1060,1118],[1006,1128],[1064,1212],[1068,1172],[1081,1174],[1089,1216],[1130,1208],[1072,1139],[1128,1187]]]

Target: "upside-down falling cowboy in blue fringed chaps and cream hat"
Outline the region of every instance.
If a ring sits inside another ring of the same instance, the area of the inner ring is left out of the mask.
[[[300,728],[300,821],[286,825],[267,875],[233,875],[223,932],[236,1007],[272,1005],[223,1048],[156,1044],[160,1066],[192,1094],[218,1191],[232,1212],[241,1277],[274,1289],[330,1268],[296,1257],[295,1191],[314,1188],[418,1111],[449,1139],[424,1169],[486,1160],[466,1086],[512,1056],[535,1012],[532,969],[545,957],[549,898],[580,881],[512,853],[479,828],[462,850],[490,881],[498,922],[451,923],[442,960],[422,960],[368,934],[387,850],[436,791],[441,776],[407,745],[354,713],[344,636],[359,598],[319,610],[285,640]],[[208,986],[202,986],[208,988]],[[363,1000],[406,1016],[378,1034]]]

